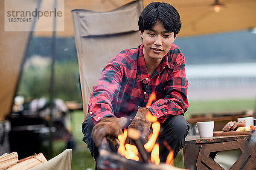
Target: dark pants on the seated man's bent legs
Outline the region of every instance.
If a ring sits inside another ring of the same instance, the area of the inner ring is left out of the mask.
[[[99,156],[98,148],[95,146],[91,133],[93,130],[93,121],[89,114],[87,114],[83,125],[82,132],[84,133],[83,141],[87,144],[92,156],[97,160]],[[186,136],[189,133],[189,123],[182,115],[173,116],[166,119],[161,124],[161,130],[157,138],[159,144],[160,161],[165,162],[169,154],[169,150],[163,144],[166,141],[174,150],[174,158],[183,146]]]

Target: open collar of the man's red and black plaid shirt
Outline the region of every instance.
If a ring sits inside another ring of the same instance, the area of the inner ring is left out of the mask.
[[[166,67],[166,65],[170,69],[175,68],[172,63],[170,51],[163,57],[162,61],[160,62],[160,65],[156,68],[157,72],[158,73],[162,72],[163,69]],[[146,78],[149,78],[149,74],[148,74],[148,70],[147,70],[144,55],[143,55],[143,44],[142,44],[142,45],[140,45],[140,49],[139,49],[136,80],[137,80],[137,82],[140,82],[141,80],[144,80]]]

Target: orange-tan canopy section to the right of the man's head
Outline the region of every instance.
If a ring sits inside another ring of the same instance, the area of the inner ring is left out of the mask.
[[[146,0],[149,1],[149,0]],[[219,12],[214,11],[215,0],[167,0],[179,12],[182,21],[178,37],[241,31],[256,27],[255,0],[219,0]]]

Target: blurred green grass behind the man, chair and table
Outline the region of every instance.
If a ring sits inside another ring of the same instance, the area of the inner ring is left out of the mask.
[[[189,111],[185,113],[186,119],[192,114],[202,113],[221,113],[221,112],[239,112],[248,109],[255,109],[255,99],[233,99],[233,100],[216,100],[216,101],[191,101],[189,102]],[[86,170],[91,168],[94,170],[95,161],[90,155],[87,146],[82,142],[83,134],[81,133],[81,125],[84,121],[84,113],[82,111],[75,111],[71,113],[72,131],[76,140],[76,149],[72,154],[71,170]],[[54,155],[65,150],[66,143],[62,141],[54,142]],[[175,167],[184,168],[182,154],[178,154],[174,160]]]

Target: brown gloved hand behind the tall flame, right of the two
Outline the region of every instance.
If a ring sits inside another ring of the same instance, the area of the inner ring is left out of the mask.
[[[139,108],[133,121],[127,128],[128,132],[129,132],[129,129],[131,129],[131,128],[139,130],[141,132],[140,137],[142,139],[143,144],[148,142],[148,132],[153,123],[146,119],[146,114],[148,112],[150,112],[150,111],[147,108]],[[129,137],[126,138],[125,143],[135,145],[134,140],[132,140]]]

